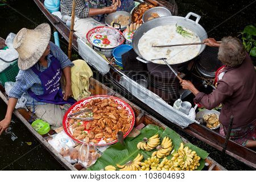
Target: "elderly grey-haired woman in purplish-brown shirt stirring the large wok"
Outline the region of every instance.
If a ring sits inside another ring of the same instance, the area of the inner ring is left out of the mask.
[[[195,103],[209,110],[222,104],[221,135],[226,134],[229,118],[233,115],[230,139],[246,147],[256,147],[256,72],[250,56],[241,41],[231,36],[223,38],[221,43],[206,39],[205,44],[219,47],[218,59],[225,65],[216,90],[210,94],[199,92],[187,80],[181,81],[181,86],[191,90]]]

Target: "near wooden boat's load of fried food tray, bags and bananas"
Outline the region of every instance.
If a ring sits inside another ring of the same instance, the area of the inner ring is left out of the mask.
[[[0,89],[7,104],[5,89]],[[90,92],[69,108],[63,127],[41,135],[30,123],[32,113],[20,108],[14,114],[67,169],[225,170],[206,151],[94,78]]]

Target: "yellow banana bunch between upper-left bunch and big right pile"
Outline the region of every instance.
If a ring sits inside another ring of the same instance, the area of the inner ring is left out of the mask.
[[[164,158],[171,154],[172,148],[172,139],[169,137],[164,137],[160,146],[156,147],[158,151],[153,152],[152,156],[157,156],[159,159]]]

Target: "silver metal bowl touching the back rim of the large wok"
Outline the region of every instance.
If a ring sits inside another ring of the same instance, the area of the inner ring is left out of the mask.
[[[146,23],[146,22],[150,21],[150,20],[148,20],[148,18],[151,17],[152,13],[157,13],[160,17],[172,16],[171,11],[168,10],[167,8],[165,8],[165,7],[153,7],[153,8],[144,12],[144,14],[142,16],[142,22]],[[156,19],[156,18],[154,18],[154,19]]]

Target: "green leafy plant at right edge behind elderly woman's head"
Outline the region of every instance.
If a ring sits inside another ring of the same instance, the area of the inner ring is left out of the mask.
[[[250,56],[256,57],[256,27],[246,26],[239,36],[242,36],[243,46]]]

